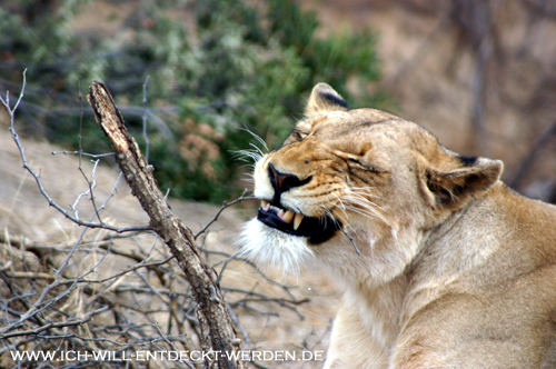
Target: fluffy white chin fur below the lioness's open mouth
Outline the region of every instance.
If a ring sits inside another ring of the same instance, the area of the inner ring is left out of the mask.
[[[241,255],[297,275],[300,266],[314,257],[306,237],[292,236],[270,228],[257,218],[246,222],[241,231]]]

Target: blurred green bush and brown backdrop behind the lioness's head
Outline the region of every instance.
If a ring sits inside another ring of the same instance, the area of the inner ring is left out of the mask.
[[[86,151],[108,150],[82,99],[102,80],[139,140],[147,114],[150,161],[175,197],[221,201],[248,187],[237,151],[252,134],[278,146],[326,81],[351,107],[503,159],[510,186],[556,201],[554,1],[0,4],[0,89],[18,90],[28,69],[24,133],[77,147],[81,129]]]

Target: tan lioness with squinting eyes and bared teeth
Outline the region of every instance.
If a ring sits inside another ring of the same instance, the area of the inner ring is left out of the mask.
[[[345,291],[325,368],[556,368],[556,207],[328,84],[255,168],[254,259]]]

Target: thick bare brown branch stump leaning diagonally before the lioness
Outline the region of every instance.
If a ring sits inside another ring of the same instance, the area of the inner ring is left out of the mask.
[[[198,303],[197,318],[202,350],[222,353],[216,357],[216,361],[206,361],[206,367],[242,368],[241,361],[225,355],[239,350],[240,339],[236,336],[226,301],[216,281],[216,272],[202,262],[191,230],[168,207],[152,176],[152,167],[147,163],[136,140],[129,134],[105,84],[92,82],[88,100],[98,124],[112,143],[126,181],[150,218],[152,230],[165,240],[191,285]]]

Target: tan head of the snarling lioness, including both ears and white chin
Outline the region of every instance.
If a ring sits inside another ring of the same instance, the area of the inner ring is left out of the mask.
[[[502,170],[498,161],[446,150],[415,123],[347,110],[324,83],[306,114],[281,148],[258,160],[261,205],[244,231],[248,255],[285,269],[315,255],[340,268],[403,268],[427,229]]]

